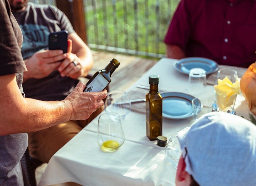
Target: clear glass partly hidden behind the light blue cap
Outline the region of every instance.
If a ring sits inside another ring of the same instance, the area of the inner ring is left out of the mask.
[[[165,155],[169,162],[177,169],[178,162],[181,157],[181,147],[177,137],[179,132],[174,132],[171,134],[168,144],[165,147]]]

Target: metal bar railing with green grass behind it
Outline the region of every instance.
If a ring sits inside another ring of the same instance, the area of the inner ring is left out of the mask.
[[[30,0],[53,4],[55,0]],[[83,0],[91,49],[161,58],[180,0]]]

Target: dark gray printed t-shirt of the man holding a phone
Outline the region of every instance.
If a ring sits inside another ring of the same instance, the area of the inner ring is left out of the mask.
[[[21,53],[23,59],[31,57],[35,52],[48,48],[48,34],[67,30],[74,32],[67,16],[52,5],[38,5],[28,2],[26,10],[13,13],[22,34]],[[74,89],[78,80],[61,77],[55,70],[42,79],[30,78],[23,82],[26,97],[44,101],[63,100]]]

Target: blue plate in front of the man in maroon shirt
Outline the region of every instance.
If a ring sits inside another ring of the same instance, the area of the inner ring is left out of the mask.
[[[206,74],[216,72],[219,68],[215,61],[199,57],[183,58],[176,61],[173,65],[175,70],[184,74],[189,74],[191,68],[203,68]]]

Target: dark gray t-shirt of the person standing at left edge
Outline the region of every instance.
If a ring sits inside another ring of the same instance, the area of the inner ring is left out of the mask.
[[[26,66],[20,48],[22,34],[11,13],[8,0],[0,0],[0,76],[16,75],[22,92],[23,72]],[[10,113],[11,114],[11,113]],[[24,122],[20,122],[20,125]],[[28,146],[27,133],[0,136],[0,185],[23,185],[19,161]]]

